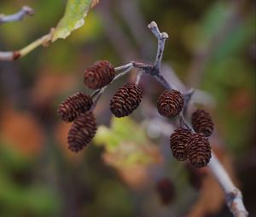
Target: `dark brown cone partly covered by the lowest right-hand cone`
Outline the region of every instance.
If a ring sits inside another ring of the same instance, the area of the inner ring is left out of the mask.
[[[191,135],[189,129],[177,128],[170,138],[170,145],[172,149],[172,155],[178,161],[187,160],[187,142]]]

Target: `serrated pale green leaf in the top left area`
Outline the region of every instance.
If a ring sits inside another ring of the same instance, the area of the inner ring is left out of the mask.
[[[64,16],[55,28],[52,42],[58,38],[65,39],[70,33],[84,25],[84,17],[87,15],[92,0],[67,0]]]

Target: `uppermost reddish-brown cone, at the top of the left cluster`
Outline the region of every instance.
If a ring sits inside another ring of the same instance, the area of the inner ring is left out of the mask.
[[[85,69],[84,84],[90,89],[101,89],[111,83],[114,77],[114,67],[107,60],[96,61]]]

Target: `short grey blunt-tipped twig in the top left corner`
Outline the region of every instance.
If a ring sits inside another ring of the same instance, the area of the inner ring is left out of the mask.
[[[0,14],[0,24],[7,22],[14,22],[22,20],[26,15],[32,16],[34,14],[34,10],[28,6],[23,6],[20,11],[15,14],[4,15]]]

